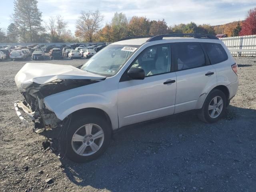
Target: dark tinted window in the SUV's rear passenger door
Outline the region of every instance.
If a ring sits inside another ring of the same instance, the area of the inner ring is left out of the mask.
[[[205,56],[200,44],[174,44],[175,60],[178,70],[205,66]]]

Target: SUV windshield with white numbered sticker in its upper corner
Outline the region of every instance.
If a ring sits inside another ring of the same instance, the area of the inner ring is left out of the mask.
[[[138,47],[138,45],[109,45],[89,59],[81,69],[103,76],[113,76]]]

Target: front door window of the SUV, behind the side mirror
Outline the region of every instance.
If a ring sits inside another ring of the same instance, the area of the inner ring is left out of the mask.
[[[143,69],[145,76],[170,72],[170,46],[146,48],[134,60],[132,67]]]

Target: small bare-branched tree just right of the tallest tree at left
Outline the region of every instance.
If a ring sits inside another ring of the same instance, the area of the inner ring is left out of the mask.
[[[49,19],[46,28],[50,31],[51,42],[58,42],[60,34],[66,29],[67,24],[68,22],[65,22],[60,15]]]

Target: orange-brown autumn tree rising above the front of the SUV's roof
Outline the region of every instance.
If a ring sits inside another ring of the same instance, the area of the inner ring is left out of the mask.
[[[133,16],[128,24],[128,36],[149,35],[150,21],[146,17]]]

